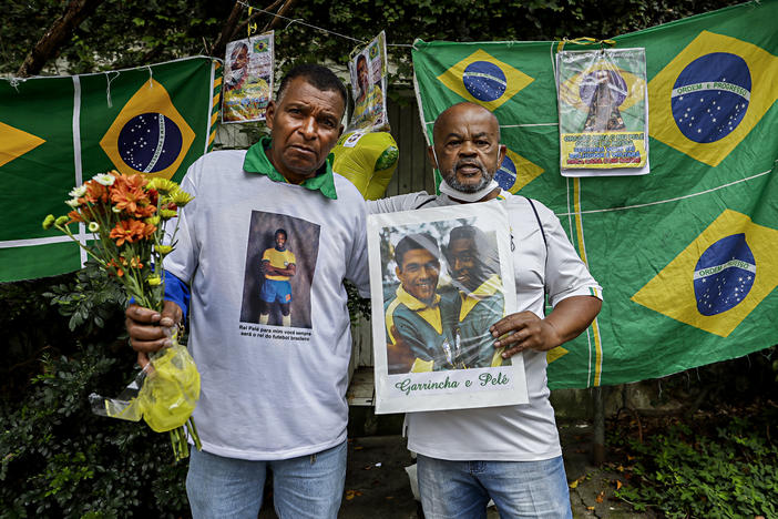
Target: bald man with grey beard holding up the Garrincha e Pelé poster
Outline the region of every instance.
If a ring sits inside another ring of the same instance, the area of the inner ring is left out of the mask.
[[[473,103],[455,104],[437,119],[429,157],[443,177],[442,194],[399,195],[370,202],[368,208],[388,213],[504,200],[519,312],[484,328],[495,338],[495,348],[504,347],[503,358],[523,354],[530,401],[407,415],[424,517],[483,518],[491,498],[503,519],[571,518],[545,353],[586,329],[600,312],[601,287],[551,210],[494,182],[505,146],[491,112]],[[554,309],[544,316],[546,294]]]

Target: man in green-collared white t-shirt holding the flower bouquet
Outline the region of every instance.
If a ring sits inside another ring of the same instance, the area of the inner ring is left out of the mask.
[[[181,323],[190,308],[187,346],[202,387],[193,418],[203,450],[192,449],[186,478],[195,519],[256,519],[268,470],[278,516],[337,517],[351,354],[344,279],[369,295],[365,201],[326,161],[345,106],[346,89],[331,71],[290,70],[267,106],[269,139],[207,153],[187,171],[182,189],[194,200],[165,258],[163,312],[126,311],[143,364],[170,345],[162,326]],[[296,237],[294,272],[276,271],[295,275],[296,322],[309,306],[309,320],[293,328],[256,324],[256,265],[264,236],[279,227],[276,238]]]

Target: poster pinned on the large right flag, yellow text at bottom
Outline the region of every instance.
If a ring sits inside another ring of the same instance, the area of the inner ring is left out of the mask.
[[[559,52],[556,86],[564,176],[649,172],[644,49]]]

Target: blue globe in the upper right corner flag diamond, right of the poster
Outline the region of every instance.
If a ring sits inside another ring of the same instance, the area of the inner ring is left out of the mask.
[[[678,130],[689,140],[710,143],[743,122],[751,98],[746,61],[728,52],[697,58],[678,74],[670,106]]]

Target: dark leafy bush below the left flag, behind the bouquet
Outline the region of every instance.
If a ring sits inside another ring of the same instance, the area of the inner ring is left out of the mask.
[[[124,302],[94,265],[0,286],[12,375],[0,399],[0,518],[188,516],[186,462],[173,464],[168,436],[89,405],[134,378]]]

